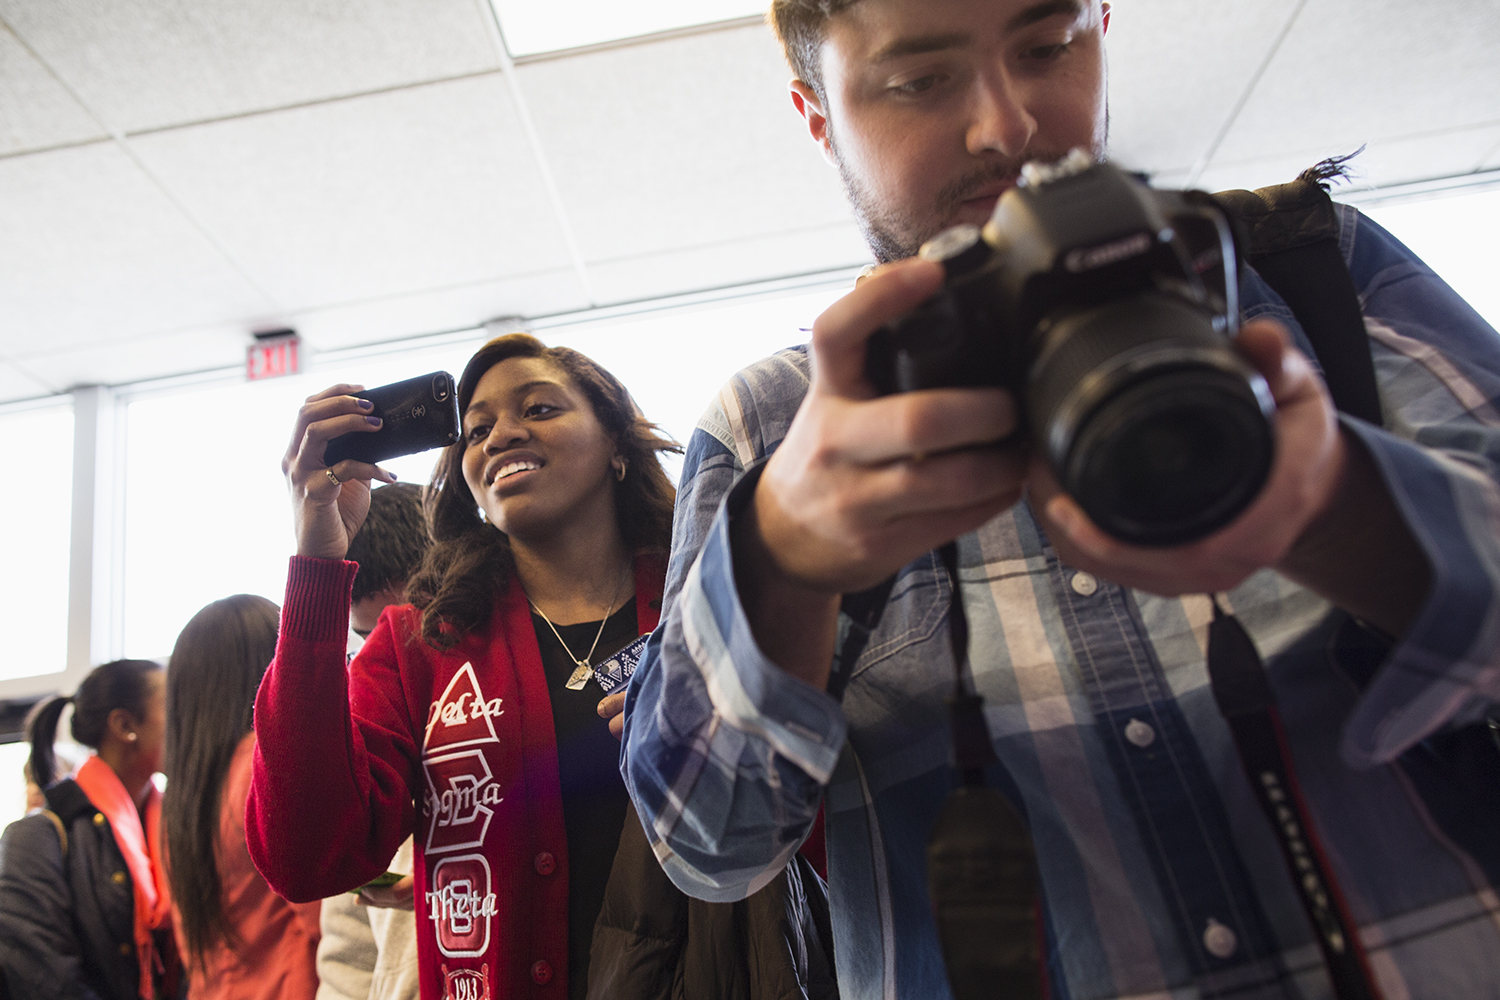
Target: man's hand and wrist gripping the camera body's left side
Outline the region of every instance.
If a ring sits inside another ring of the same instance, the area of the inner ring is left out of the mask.
[[[826,682],[838,595],[879,583],[1016,504],[1016,405],[999,388],[878,397],[870,334],[932,295],[942,265],[882,268],[813,324],[812,385],[734,531],[735,576],[762,652]]]

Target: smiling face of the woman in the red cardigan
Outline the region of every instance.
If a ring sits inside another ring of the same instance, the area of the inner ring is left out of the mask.
[[[464,481],[514,541],[574,519],[615,523],[615,444],[573,379],[543,358],[507,358],[464,411]]]

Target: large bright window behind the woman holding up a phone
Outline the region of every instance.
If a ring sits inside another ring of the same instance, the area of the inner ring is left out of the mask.
[[[843,286],[735,300],[621,319],[538,328],[614,372],[648,418],[687,442],[718,387],[740,367],[801,343],[801,327]],[[435,369],[454,376],[483,342],[452,343],[267,382],[226,384],[129,403],[124,481],[123,655],[165,660],[177,633],[230,594],[282,600],[292,552],[280,459],[297,408],[333,382],[382,385]],[[387,463],[426,483],[436,453]],[[663,463],[675,481],[680,460]],[[63,601],[62,606],[66,606]]]

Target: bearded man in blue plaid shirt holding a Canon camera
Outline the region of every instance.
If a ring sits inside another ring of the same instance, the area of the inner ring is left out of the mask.
[[[1096,528],[1010,438],[1010,393],[876,397],[866,376],[870,334],[944,282],[922,241],[982,225],[1029,160],[1102,157],[1108,16],[772,6],[792,100],[884,267],[806,349],[741,372],[688,445],[627,784],[672,879],[714,900],[771,879],[825,804],[843,996],[946,996],[924,850],[954,784],[957,670],[984,699],[986,778],[1035,844],[1052,996],[1335,996],[1320,955],[1350,942],[1314,933],[1209,690],[1218,594],[1264,658],[1311,828],[1294,840],[1344,904],[1365,996],[1500,997],[1482,727],[1500,700],[1500,345],[1473,310],[1342,211],[1388,432],[1340,417],[1251,274],[1236,348],[1275,399],[1275,460],[1232,523],[1174,547]],[[957,592],[936,552],[954,538]],[[892,574],[850,663],[846,598]]]

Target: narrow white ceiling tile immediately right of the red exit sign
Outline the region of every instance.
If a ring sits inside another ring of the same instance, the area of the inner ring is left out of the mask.
[[[477,327],[498,316],[544,316],[588,309],[572,268],[464,288],[315,309],[290,316],[309,346],[333,351]]]

